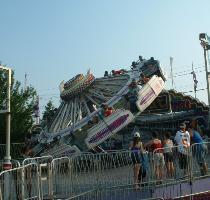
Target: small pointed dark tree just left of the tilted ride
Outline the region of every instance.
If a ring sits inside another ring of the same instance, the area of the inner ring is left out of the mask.
[[[43,126],[47,126],[47,128],[49,128],[50,122],[52,121],[56,110],[57,108],[53,105],[52,100],[49,100],[45,106],[45,111],[43,112]]]

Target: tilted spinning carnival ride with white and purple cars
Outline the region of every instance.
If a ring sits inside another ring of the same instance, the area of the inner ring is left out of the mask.
[[[40,134],[38,144],[33,147],[34,155],[62,156],[71,154],[72,150],[77,153],[90,149],[103,151],[99,145],[132,122],[163,89],[165,78],[153,57],[149,60],[139,57],[129,71],[121,72],[95,78],[88,71],[87,75],[78,74],[61,83],[62,102],[48,129]],[[141,74],[150,80],[136,86],[138,109],[131,112],[126,95],[132,81],[138,82]],[[110,116],[102,116],[102,104],[114,107],[115,111]]]

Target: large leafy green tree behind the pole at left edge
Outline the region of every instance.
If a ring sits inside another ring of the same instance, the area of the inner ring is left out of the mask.
[[[6,100],[6,74],[0,71],[0,105]],[[14,79],[12,72],[11,84],[11,142],[23,142],[24,136],[30,132],[33,125],[33,107],[36,91],[32,86],[25,90],[21,83]],[[5,143],[5,114],[0,114],[0,143]]]

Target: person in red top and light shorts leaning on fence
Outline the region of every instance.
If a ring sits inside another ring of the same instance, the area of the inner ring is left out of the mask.
[[[144,145],[145,148],[149,147],[153,152],[153,162],[155,168],[155,176],[157,180],[163,178],[163,167],[164,167],[164,156],[163,156],[163,145],[161,140],[158,139],[157,133],[152,132],[152,140]]]

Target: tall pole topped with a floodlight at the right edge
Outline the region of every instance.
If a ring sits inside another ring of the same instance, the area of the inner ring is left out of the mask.
[[[207,51],[210,50],[210,41],[206,33],[199,34],[199,40],[201,41],[201,46],[203,47],[204,52],[204,62],[206,70],[206,83],[207,83],[207,95],[208,95],[208,105],[210,106],[210,94],[209,94],[209,72],[208,72],[208,62],[207,62]]]

